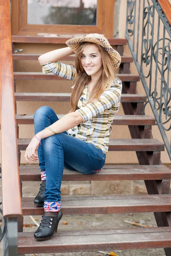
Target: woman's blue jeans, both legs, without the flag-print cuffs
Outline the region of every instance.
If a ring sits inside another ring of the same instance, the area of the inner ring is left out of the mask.
[[[58,121],[52,108],[44,106],[35,112],[35,134]],[[64,131],[41,140],[38,148],[41,172],[46,171],[46,202],[61,200],[64,167],[82,174],[96,174],[104,166],[106,155],[93,144],[72,137]]]

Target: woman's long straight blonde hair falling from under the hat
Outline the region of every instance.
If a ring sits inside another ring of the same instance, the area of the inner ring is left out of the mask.
[[[72,109],[70,112],[74,112],[76,109],[78,109],[77,107],[78,100],[84,90],[84,86],[86,84],[88,85],[91,81],[91,76],[87,75],[87,73],[85,72],[81,64],[81,54],[83,52],[83,49],[86,46],[91,44],[94,44],[94,43],[85,42],[80,44],[76,52],[76,56],[75,56],[76,74],[75,74],[75,79],[73,81],[74,88],[71,93]],[[88,100],[87,104],[95,101],[96,99],[99,99],[100,95],[106,90],[106,88],[107,89],[110,88],[113,82],[113,79],[115,78],[115,72],[114,72],[113,63],[111,61],[110,55],[100,45],[98,44],[94,44],[94,45],[96,45],[96,47],[99,48],[99,51],[101,53],[103,71],[101,76],[93,86],[93,89],[90,94],[90,99]]]

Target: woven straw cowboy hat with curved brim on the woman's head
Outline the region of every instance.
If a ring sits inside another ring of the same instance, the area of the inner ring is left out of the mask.
[[[79,45],[84,42],[91,42],[91,43],[101,45],[101,47],[103,47],[110,55],[110,58],[113,62],[114,69],[117,69],[121,64],[121,56],[119,52],[117,52],[111,47],[111,45],[109,44],[109,41],[107,40],[107,38],[104,37],[104,35],[89,34],[84,37],[71,38],[66,41],[66,44],[72,49],[73,52],[76,53]]]

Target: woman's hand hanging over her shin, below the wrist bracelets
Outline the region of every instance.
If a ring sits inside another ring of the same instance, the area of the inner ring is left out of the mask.
[[[24,155],[27,163],[30,163],[30,160],[37,162],[38,160],[38,147],[39,147],[39,140],[36,137],[33,137],[31,142],[29,143],[28,147],[26,148],[26,153]]]

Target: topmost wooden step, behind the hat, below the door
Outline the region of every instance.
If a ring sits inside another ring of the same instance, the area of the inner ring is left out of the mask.
[[[42,36],[30,36],[30,35],[12,35],[12,43],[38,43],[38,44],[65,44],[71,37],[42,37]],[[108,38],[110,45],[126,45],[127,40],[125,38]]]

